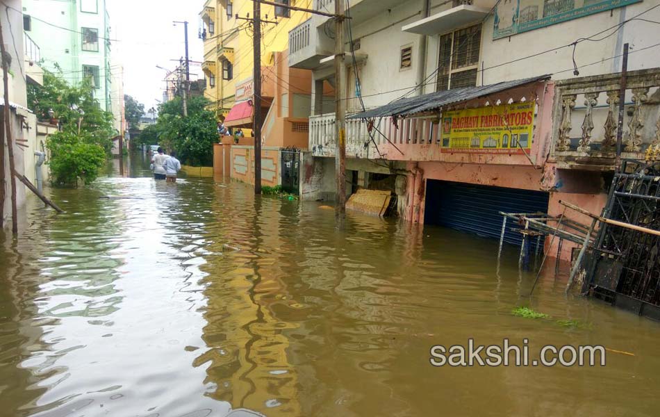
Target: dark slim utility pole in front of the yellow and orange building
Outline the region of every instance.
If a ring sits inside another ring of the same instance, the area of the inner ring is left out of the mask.
[[[254,6],[254,97],[252,99],[254,113],[254,194],[261,195],[261,3],[253,0]]]

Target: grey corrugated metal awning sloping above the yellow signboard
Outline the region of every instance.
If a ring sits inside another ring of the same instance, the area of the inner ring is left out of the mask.
[[[456,88],[455,90],[445,90],[432,92],[430,94],[411,97],[409,99],[400,99],[393,103],[386,104],[370,111],[358,113],[347,117],[348,119],[367,119],[370,117],[405,117],[417,113],[436,111],[447,104],[454,104],[460,101],[468,101],[479,97],[486,97],[500,91],[509,90],[509,88],[520,87],[537,81],[546,81],[550,75],[535,76],[528,79],[504,81],[502,83],[481,85],[479,87]]]

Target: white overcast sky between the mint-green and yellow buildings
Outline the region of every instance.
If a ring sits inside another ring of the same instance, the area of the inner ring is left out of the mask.
[[[204,58],[204,45],[197,38],[204,0],[108,0],[106,4],[112,38],[118,41],[113,42],[112,53],[119,62],[113,65],[124,65],[124,92],[145,104],[147,110],[155,107],[165,88],[165,71],[156,65],[174,69],[178,63],[173,60],[185,52],[183,25],[174,26],[172,21],[189,22],[190,59]]]

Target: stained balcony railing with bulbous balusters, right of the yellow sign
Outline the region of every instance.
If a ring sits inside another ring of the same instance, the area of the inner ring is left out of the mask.
[[[660,69],[629,72],[625,97],[620,74],[557,81],[553,155],[562,168],[612,170],[618,106],[625,99],[622,157],[643,159],[660,145]]]

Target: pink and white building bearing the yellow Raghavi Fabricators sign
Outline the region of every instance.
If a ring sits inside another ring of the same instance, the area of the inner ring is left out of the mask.
[[[334,10],[331,0],[313,6]],[[390,189],[406,220],[493,237],[500,211],[559,215],[565,200],[600,213],[626,43],[634,75],[623,97],[623,156],[643,159],[660,134],[657,6],[349,2],[345,93],[349,115],[358,115],[347,120],[348,193]],[[313,15],[290,32],[289,65],[313,72],[306,199],[336,191],[335,115],[318,93],[335,76],[332,24]]]

